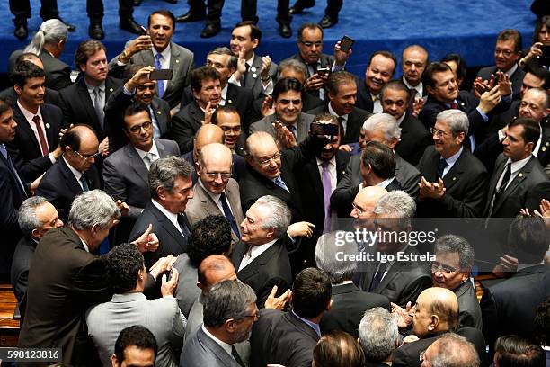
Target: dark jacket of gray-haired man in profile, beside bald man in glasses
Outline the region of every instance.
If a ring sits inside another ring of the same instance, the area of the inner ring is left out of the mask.
[[[183,215],[187,228],[191,228],[189,222]],[[187,251],[187,241],[189,237],[182,236],[178,228],[175,228],[166,216],[158,210],[152,202],[149,202],[137,217],[136,224],[129,236],[129,240],[133,241],[145,232],[149,224],[153,225],[153,232],[158,237],[158,249],[155,252],[146,252],[144,259],[147,269],[155,264],[156,260],[167,255],[180,255]],[[191,229],[190,229],[191,232]]]

